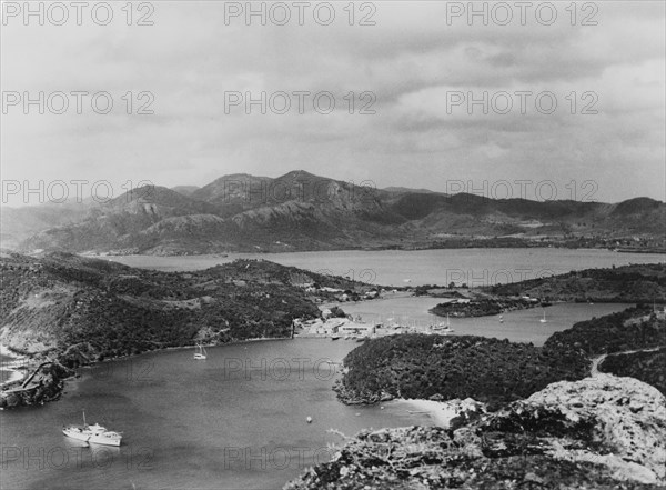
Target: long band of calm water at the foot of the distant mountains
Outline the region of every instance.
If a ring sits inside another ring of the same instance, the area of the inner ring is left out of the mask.
[[[617,253],[589,249],[450,249],[418,251],[335,251],[246,254],[229,257],[110,257],[121,263],[164,271],[200,270],[239,258],[265,259],[322,273],[349,276],[382,286],[470,286],[515,282],[588,268],[665,262],[656,253]],[[407,282],[408,281],[408,282]]]

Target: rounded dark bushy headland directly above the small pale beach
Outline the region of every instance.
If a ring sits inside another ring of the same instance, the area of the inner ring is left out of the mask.
[[[573,347],[536,348],[484,337],[401,334],[373,339],[344,359],[335,386],[345,403],[392,398],[518,400],[559,380],[584,378],[589,361]]]

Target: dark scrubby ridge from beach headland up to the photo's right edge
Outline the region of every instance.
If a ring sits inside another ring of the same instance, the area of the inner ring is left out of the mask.
[[[502,403],[584,378],[593,356],[658,347],[666,347],[666,320],[646,307],[578,322],[542,348],[472,336],[383,337],[345,357],[334,389],[345,403],[432,397]]]

